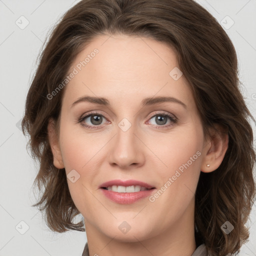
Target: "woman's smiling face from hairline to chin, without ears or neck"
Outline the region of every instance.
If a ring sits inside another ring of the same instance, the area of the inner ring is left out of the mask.
[[[65,168],[86,232],[135,241],[191,223],[208,144],[175,51],[100,35],[70,72],[54,164]]]

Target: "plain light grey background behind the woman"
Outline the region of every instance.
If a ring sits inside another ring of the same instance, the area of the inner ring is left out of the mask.
[[[30,206],[35,202],[31,185],[37,166],[26,151],[27,138],[19,129],[36,57],[46,34],[77,2],[0,0],[0,256],[80,256],[86,242],[85,232],[58,234],[47,230],[41,214]],[[256,0],[197,2],[225,27],[231,38],[238,55],[242,93],[256,116]],[[26,20],[29,24],[23,28]],[[255,134],[255,125],[253,129]],[[254,204],[248,221],[250,238],[242,246],[242,256],[256,255],[255,211]]]

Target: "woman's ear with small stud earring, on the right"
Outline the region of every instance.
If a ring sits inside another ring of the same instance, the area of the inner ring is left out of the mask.
[[[202,172],[211,172],[217,169],[228,147],[227,130],[224,130],[219,124],[214,124],[214,128],[210,130],[210,138],[204,144],[204,157],[201,164]]]

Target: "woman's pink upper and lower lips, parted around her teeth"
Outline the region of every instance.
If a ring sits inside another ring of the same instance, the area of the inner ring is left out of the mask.
[[[114,192],[111,190],[106,190],[103,187],[108,187],[112,185],[119,185],[119,186],[131,186],[131,185],[139,185],[148,188],[149,190],[143,190],[138,192],[131,192],[131,193],[119,193]],[[119,203],[119,204],[131,204],[135,201],[145,198],[149,196],[156,188],[152,185],[139,181],[134,179],[129,180],[120,180],[120,179],[114,179],[107,182],[102,183],[99,186],[102,193],[110,200]]]

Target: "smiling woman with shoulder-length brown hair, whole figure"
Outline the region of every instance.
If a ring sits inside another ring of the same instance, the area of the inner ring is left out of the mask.
[[[233,45],[199,4],[82,0],[27,94],[33,206],[54,231],[85,225],[83,256],[235,253],[255,197],[249,118]]]

